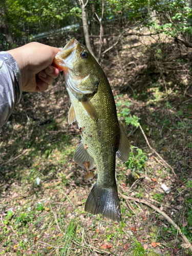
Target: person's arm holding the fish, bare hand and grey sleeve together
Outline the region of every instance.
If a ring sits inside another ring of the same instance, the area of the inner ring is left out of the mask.
[[[22,91],[46,91],[58,77],[51,66],[59,49],[37,42],[0,53],[0,127],[6,123]]]

